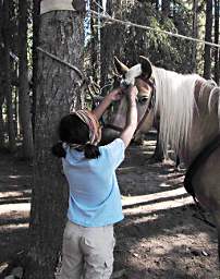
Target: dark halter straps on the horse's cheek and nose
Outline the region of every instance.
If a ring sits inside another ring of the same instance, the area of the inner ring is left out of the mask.
[[[155,86],[155,81],[154,78],[151,80],[146,80],[145,77],[140,76],[139,78],[142,78],[145,83],[147,83],[150,87],[151,87],[151,94],[149,96],[149,101],[148,101],[148,106],[146,108],[146,111],[144,113],[144,116],[142,117],[142,119],[139,120],[139,122],[137,123],[137,128],[136,131],[134,133],[134,135],[138,132],[138,130],[140,129],[142,124],[144,123],[145,119],[147,118],[147,116],[149,114],[149,111],[154,108],[155,106],[155,98],[156,98],[156,86]],[[103,128],[106,129],[111,129],[114,130],[117,132],[122,132],[123,129],[113,124],[106,124],[103,122]]]

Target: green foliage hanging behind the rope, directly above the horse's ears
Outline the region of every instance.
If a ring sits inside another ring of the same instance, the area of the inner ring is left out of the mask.
[[[173,34],[191,36],[191,11],[184,5],[178,4],[170,12],[169,17],[163,17],[161,11],[156,10],[149,3],[137,3],[127,14],[130,21],[149,26],[155,31],[131,28],[130,39],[125,41],[125,53],[129,53],[132,63],[138,60],[139,54],[145,54],[150,61],[169,70],[191,72],[192,43],[181,38],[169,36],[162,31]],[[133,41],[131,46],[131,41]],[[129,43],[129,44],[127,44]]]

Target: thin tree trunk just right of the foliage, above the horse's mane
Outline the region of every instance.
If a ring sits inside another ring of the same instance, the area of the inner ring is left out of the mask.
[[[198,0],[193,0],[193,38],[198,37]],[[192,70],[196,72],[196,41],[192,46]]]

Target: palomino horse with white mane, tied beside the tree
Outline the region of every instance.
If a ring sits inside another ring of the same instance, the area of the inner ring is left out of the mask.
[[[160,141],[181,156],[186,166],[184,185],[194,199],[213,216],[220,258],[220,87],[196,74],[178,74],[140,63],[126,68],[115,61],[122,83],[138,88],[138,131],[147,132],[154,117],[160,119]],[[111,138],[125,125],[126,97],[109,111],[103,135]]]

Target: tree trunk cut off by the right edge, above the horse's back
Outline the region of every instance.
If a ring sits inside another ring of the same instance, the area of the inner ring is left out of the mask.
[[[215,0],[215,44],[219,44],[219,9],[220,9],[220,1]],[[220,82],[220,49],[215,48],[215,81],[217,84]]]

